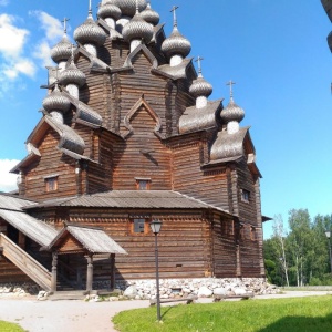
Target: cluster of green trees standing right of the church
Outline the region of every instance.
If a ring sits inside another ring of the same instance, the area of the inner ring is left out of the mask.
[[[282,284],[332,284],[329,242],[332,215],[311,221],[307,209],[289,211],[289,232],[280,215],[274,216],[273,236],[264,240],[264,262],[270,282]]]

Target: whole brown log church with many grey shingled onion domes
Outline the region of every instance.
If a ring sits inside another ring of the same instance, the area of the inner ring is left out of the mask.
[[[0,195],[0,283],[95,289],[263,278],[260,172],[245,112],[209,101],[190,42],[146,0],[103,0],[51,50],[42,118]],[[230,82],[230,87],[232,83]],[[104,282],[104,283],[103,283]]]

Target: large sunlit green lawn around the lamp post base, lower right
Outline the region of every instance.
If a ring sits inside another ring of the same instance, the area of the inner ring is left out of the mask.
[[[326,332],[332,331],[332,297],[224,301],[210,304],[123,311],[113,318],[121,332]]]

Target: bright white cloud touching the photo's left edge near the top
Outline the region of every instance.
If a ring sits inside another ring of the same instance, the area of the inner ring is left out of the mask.
[[[22,53],[29,31],[14,25],[14,18],[0,14],[0,53],[4,58],[19,58]]]

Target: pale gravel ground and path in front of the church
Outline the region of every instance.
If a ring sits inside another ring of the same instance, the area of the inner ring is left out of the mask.
[[[278,295],[260,295],[255,299],[281,299],[332,294],[331,291],[286,291]],[[211,299],[198,302],[210,303]],[[111,319],[120,311],[147,308],[149,301],[84,302],[37,301],[35,298],[0,298],[0,320],[20,324],[29,332],[112,332]]]

